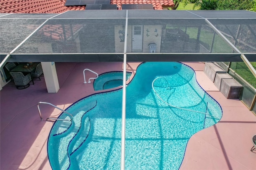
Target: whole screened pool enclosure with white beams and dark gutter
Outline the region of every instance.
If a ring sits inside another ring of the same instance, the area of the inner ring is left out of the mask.
[[[124,168],[126,62],[216,62],[243,85],[256,113],[256,90],[232,69],[256,77],[256,12],[246,10],[84,10],[0,14],[0,68],[8,62],[124,62],[121,168]],[[44,75],[47,76],[46,74]]]

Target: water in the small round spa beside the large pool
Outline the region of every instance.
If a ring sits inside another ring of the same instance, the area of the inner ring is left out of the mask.
[[[131,76],[132,73],[126,72],[126,80]],[[93,82],[93,88],[97,90],[111,89],[123,85],[123,72],[122,71],[111,71],[99,75]]]

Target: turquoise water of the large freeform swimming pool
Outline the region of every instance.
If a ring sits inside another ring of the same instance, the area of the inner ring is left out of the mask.
[[[188,139],[222,116],[194,70],[178,62],[140,64],[126,95],[127,170],[179,169]],[[56,121],[48,138],[52,169],[119,170],[122,89],[90,95],[66,111],[74,121]],[[60,118],[69,119],[65,113]]]

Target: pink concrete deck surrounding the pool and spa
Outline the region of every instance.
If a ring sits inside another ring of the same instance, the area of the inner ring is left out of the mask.
[[[135,73],[140,63],[127,63]],[[219,123],[194,134],[188,141],[182,170],[256,170],[256,153],[250,151],[256,134],[256,116],[238,99],[226,99],[204,74],[204,63],[185,62],[196,71],[198,83],[223,109]],[[34,85],[18,90],[13,82],[0,91],[0,169],[50,170],[47,138],[53,122],[40,121],[37,103],[52,103],[66,109],[75,101],[98,93],[92,83],[84,84],[83,70],[97,73],[122,71],[121,62],[56,63],[60,84],[58,93],[47,93],[44,77]],[[88,76],[93,74],[88,73]],[[86,75],[87,76],[87,75]],[[132,76],[130,77],[132,79]],[[60,111],[40,105],[42,117],[58,116]]]

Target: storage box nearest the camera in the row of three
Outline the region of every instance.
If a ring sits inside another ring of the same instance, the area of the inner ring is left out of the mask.
[[[220,92],[227,99],[238,99],[241,90],[242,85],[235,79],[221,79]]]

